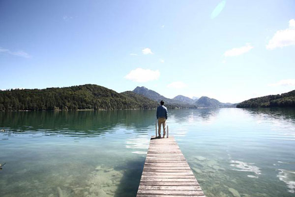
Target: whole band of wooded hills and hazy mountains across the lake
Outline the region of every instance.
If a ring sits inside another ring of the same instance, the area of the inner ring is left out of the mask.
[[[139,87],[135,90],[137,89]],[[145,87],[140,89],[144,89],[146,93],[137,93],[135,90],[117,93],[94,84],[41,90],[11,89],[0,91],[0,111],[155,109],[159,105],[158,97],[162,98],[163,96]],[[153,98],[152,96],[154,95],[158,97]],[[183,96],[181,98],[185,99]],[[194,102],[189,100],[188,103],[181,102],[181,100],[178,100],[179,103],[177,103],[175,98],[167,99],[163,97],[163,99],[167,100],[168,103],[165,105],[170,109],[199,107],[295,107],[295,90],[281,95],[269,95],[245,100],[237,105],[221,103],[216,99],[207,97],[196,99],[197,101],[193,100]]]

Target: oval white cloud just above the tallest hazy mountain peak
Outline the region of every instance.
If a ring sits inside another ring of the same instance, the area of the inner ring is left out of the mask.
[[[148,82],[160,77],[159,70],[136,68],[131,70],[124,78],[135,82]]]

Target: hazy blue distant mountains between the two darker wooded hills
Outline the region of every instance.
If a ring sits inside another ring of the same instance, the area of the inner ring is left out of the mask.
[[[222,103],[216,99],[210,99],[208,97],[201,97],[200,99],[190,99],[188,97],[184,97],[182,95],[178,95],[173,99],[168,99],[159,93],[149,90],[146,87],[136,87],[133,90],[134,93],[143,95],[149,99],[160,102],[164,100],[168,105],[180,105],[180,107],[184,108],[196,108],[196,107],[236,107],[235,104],[232,103]]]

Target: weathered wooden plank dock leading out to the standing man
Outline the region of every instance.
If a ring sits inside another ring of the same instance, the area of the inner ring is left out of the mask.
[[[205,197],[173,136],[150,139],[137,197]]]

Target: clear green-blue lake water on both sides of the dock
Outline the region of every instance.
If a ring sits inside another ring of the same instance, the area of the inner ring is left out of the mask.
[[[207,197],[295,196],[295,109],[170,110]],[[1,112],[1,197],[136,196],[155,111]]]

